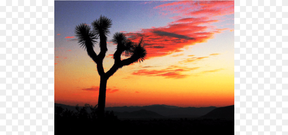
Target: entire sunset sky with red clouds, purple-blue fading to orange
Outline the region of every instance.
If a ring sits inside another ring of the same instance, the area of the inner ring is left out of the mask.
[[[74,30],[101,15],[113,23],[105,72],[114,33],[143,37],[147,50],[108,79],[106,107],[234,105],[234,1],[55,1],[55,103],[97,104],[100,76]]]

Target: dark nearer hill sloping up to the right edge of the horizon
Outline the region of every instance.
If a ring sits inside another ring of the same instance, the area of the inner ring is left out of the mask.
[[[234,105],[219,107],[200,118],[205,119],[234,119]]]

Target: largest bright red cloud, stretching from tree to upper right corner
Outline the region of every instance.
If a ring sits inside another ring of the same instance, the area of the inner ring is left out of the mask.
[[[147,59],[183,51],[183,47],[207,42],[215,33],[228,30],[218,29],[212,24],[223,19],[219,16],[234,13],[234,1],[176,1],[159,5],[155,9],[164,14],[179,15],[171,17],[176,20],[167,26],[126,33],[133,42],[139,42],[143,37]]]

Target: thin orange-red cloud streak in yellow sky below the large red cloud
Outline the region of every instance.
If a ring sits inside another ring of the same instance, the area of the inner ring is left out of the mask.
[[[133,75],[145,75],[145,76],[163,76],[165,78],[179,79],[179,78],[185,78],[188,76],[186,74],[182,74],[182,72],[196,70],[198,68],[200,67],[187,68],[187,67],[179,67],[179,66],[169,66],[168,68],[163,69],[163,70],[142,69],[142,70],[133,72],[132,74]]]

